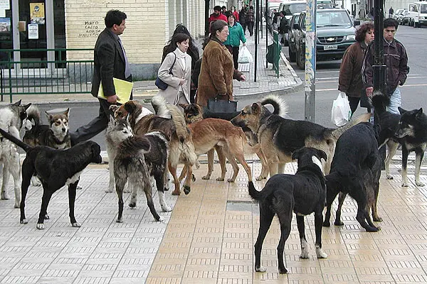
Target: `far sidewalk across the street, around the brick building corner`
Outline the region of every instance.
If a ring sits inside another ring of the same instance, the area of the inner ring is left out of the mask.
[[[247,35],[247,46],[252,55],[255,55],[255,36]],[[272,43],[271,36],[268,38],[268,43]],[[296,75],[292,66],[282,54],[280,58],[280,76],[277,77],[273,71],[273,65],[268,64],[265,67],[265,33],[264,38],[260,39],[258,44],[258,66],[257,66],[257,82],[255,80],[255,63],[239,65],[239,70],[242,70],[247,80],[246,82],[238,82],[233,80],[233,92],[236,98],[243,96],[251,96],[254,99],[263,97],[267,94],[286,94],[288,92],[296,92],[302,88],[303,82]],[[255,57],[254,57],[255,58]],[[158,89],[154,81],[137,81],[134,82],[133,94],[134,99],[147,100],[157,94]],[[35,104],[57,104],[62,102],[93,102],[97,103],[97,99],[91,94],[23,94],[14,95],[14,102],[22,99],[23,102],[33,102]],[[9,104],[9,97],[4,95],[4,102],[1,104]]]

